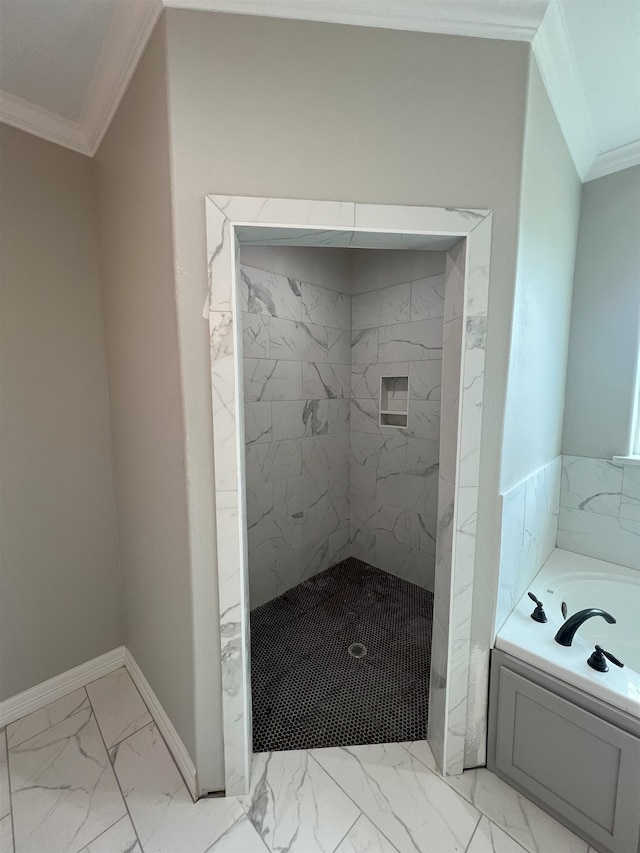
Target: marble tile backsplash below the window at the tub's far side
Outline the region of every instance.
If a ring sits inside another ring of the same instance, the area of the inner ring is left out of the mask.
[[[558,548],[640,571],[640,465],[562,457]]]

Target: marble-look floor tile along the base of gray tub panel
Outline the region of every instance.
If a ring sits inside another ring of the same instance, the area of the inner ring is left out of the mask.
[[[429,760],[428,745],[414,743],[411,755]],[[588,844],[574,835],[490,770],[466,770],[446,783],[531,853],[587,853]]]

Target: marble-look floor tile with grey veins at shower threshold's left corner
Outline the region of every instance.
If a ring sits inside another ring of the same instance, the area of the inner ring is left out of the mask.
[[[254,755],[251,777],[245,809],[270,850],[333,853],[359,817],[305,750]]]

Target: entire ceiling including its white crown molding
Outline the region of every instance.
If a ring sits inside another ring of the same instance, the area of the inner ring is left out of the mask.
[[[640,163],[640,0],[0,0],[0,120],[93,155],[165,5],[531,42],[580,177]]]

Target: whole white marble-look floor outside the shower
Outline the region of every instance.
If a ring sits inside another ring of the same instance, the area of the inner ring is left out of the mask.
[[[0,853],[592,853],[487,770],[425,742],[254,757],[194,804],[124,669],[0,730]]]

